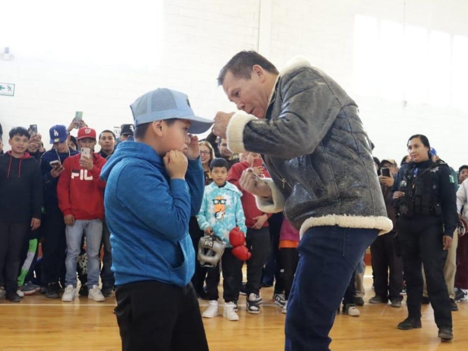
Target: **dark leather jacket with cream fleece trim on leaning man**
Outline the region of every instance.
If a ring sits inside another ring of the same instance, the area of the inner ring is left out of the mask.
[[[236,114],[227,131],[234,152],[264,156],[272,201],[301,234],[313,226],[392,229],[356,103],[302,58],[280,74],[265,119]]]

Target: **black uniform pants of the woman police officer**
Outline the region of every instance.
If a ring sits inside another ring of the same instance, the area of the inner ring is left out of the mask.
[[[424,264],[427,293],[435,322],[439,328],[452,327],[450,300],[444,279],[447,251],[443,250],[441,219],[435,216],[400,217],[397,232],[406,278],[409,317],[421,318]]]

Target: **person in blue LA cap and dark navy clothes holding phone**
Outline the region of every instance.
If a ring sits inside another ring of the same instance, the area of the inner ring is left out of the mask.
[[[70,136],[64,125],[49,129],[52,149],[41,157],[41,174],[44,182],[44,214],[42,224],[42,283],[47,298],[59,298],[59,280],[65,265],[65,222],[59,208],[57,184],[63,172],[63,162],[79,154],[68,147]],[[64,284],[64,282],[62,282]],[[62,286],[62,288],[65,288]]]

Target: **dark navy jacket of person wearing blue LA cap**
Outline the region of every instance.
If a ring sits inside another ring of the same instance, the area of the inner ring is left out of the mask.
[[[79,154],[79,152],[71,148],[69,148],[66,153],[59,153],[56,149],[52,148],[41,156],[41,174],[44,181],[44,206],[59,206],[59,201],[57,199],[57,184],[59,178],[54,178],[50,175],[50,171],[52,171],[50,162],[60,159],[61,164],[63,164],[65,158],[77,154]]]

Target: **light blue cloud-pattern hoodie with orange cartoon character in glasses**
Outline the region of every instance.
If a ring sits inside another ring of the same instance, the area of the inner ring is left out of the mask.
[[[205,187],[203,193],[202,208],[197,215],[198,225],[203,231],[213,228],[214,234],[223,239],[226,247],[232,247],[229,232],[233,228],[239,227],[247,233],[241,196],[241,191],[227,181],[221,188],[213,182]]]

